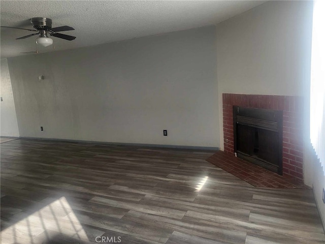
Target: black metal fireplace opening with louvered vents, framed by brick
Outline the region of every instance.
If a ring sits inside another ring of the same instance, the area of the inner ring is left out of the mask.
[[[233,106],[238,158],[282,175],[282,111]]]

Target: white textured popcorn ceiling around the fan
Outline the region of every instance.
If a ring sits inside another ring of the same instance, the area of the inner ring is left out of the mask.
[[[1,1],[1,25],[32,28],[29,18],[47,17],[52,27],[69,25],[74,41],[53,37],[42,47],[21,29],[1,28],[1,57],[50,52],[217,24],[266,1]]]

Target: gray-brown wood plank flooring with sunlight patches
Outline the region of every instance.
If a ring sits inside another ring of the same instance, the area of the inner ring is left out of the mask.
[[[2,243],[325,243],[310,189],[255,188],[214,151],[1,144]]]

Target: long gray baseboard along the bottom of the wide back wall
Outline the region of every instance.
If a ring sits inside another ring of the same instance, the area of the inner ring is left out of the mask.
[[[21,139],[33,139],[33,140],[47,140],[47,141],[66,141],[66,142],[75,142],[75,143],[104,144],[104,145],[164,147],[164,148],[194,149],[194,150],[219,150],[219,147],[214,147],[214,146],[182,146],[182,145],[145,144],[145,143],[86,141],[86,140],[42,138],[42,137],[19,137],[19,138],[21,138]]]

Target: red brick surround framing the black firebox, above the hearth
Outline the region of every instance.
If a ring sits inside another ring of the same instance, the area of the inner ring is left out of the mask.
[[[234,155],[233,105],[283,111],[283,175],[303,181],[303,98],[222,94],[224,151]]]

